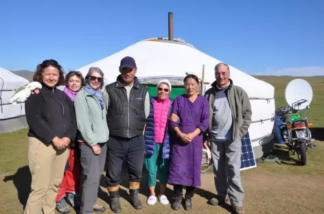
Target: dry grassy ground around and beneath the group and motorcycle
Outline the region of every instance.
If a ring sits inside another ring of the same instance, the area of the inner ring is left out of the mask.
[[[276,88],[277,107],[283,106],[282,93],[291,78],[259,77],[270,82]],[[255,169],[242,171],[242,183],[246,192],[244,208],[246,213],[323,213],[324,212],[324,113],[320,107],[324,104],[324,78],[307,79],[313,86],[314,99],[308,117],[314,122],[314,137],[317,147],[309,149],[308,165],[296,164],[296,156],[285,156],[285,148],[275,150],[283,163],[257,163]],[[9,134],[0,134],[0,213],[22,213],[23,204],[30,192],[30,171],[27,167],[27,130]],[[146,178],[144,171],[143,178]],[[154,206],[146,204],[148,188],[146,179],[141,184],[140,198],[143,210],[135,211],[130,205],[126,188],[127,172],[122,176],[122,209],[124,213],[174,213],[170,205],[159,203]],[[214,207],[207,200],[215,193],[213,174],[202,174],[203,185],[198,188],[193,200],[191,213],[230,213],[230,207]],[[167,195],[172,193],[169,187]],[[104,183],[100,187],[98,202],[106,204],[108,195]],[[106,205],[108,207],[108,205]],[[71,211],[74,213],[74,211]],[[109,209],[106,213],[112,213]],[[178,213],[185,213],[183,209]]]

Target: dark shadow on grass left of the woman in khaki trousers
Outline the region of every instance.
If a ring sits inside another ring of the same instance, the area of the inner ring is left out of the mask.
[[[15,174],[3,178],[4,182],[11,180],[14,182],[14,187],[17,189],[19,202],[23,205],[23,209],[25,210],[27,199],[31,191],[30,184],[32,183],[30,168],[28,166],[21,167]]]

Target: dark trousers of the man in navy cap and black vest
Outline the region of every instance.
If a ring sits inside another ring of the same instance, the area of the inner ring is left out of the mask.
[[[116,187],[120,183],[120,174],[124,160],[128,166],[128,181],[140,182],[144,163],[144,136],[124,138],[109,136],[106,156],[106,184],[108,187]]]

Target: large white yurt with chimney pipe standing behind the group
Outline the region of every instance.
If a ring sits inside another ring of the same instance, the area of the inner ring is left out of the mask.
[[[119,75],[120,60],[125,56],[135,58],[138,68],[137,77],[143,83],[152,78],[169,78],[170,80],[182,81],[185,73],[195,73],[201,78],[203,64],[205,64],[205,82],[210,83],[205,86],[206,89],[210,88],[211,83],[215,80],[214,67],[220,62],[220,60],[208,56],[181,39],[170,41],[150,38],[135,43],[102,60],[88,64],[78,71],[86,75],[90,67],[100,67],[104,72],[106,84],[115,82],[117,75]],[[275,88],[234,67],[230,66],[230,69],[233,83],[244,88],[251,100],[253,122],[248,131],[255,157],[258,158],[264,152],[268,152],[267,147],[273,139],[274,122],[272,118],[275,112]]]

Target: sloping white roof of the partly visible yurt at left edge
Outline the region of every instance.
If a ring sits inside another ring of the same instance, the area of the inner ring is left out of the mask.
[[[0,67],[0,90],[15,90],[30,83],[25,78]]]

